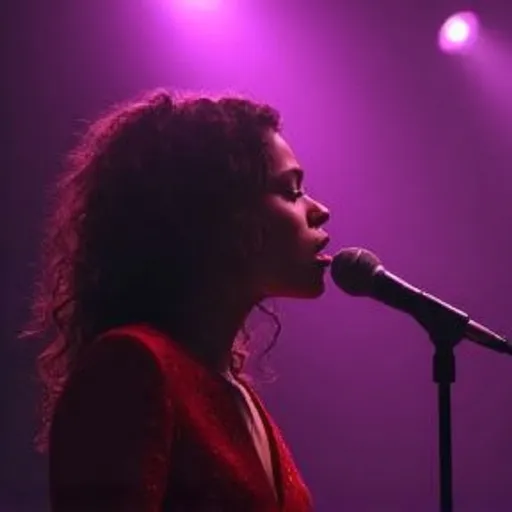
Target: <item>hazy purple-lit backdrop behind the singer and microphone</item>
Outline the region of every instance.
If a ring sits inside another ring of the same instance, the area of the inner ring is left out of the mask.
[[[332,248],[375,251],[402,277],[512,336],[512,2],[171,0],[2,4],[0,507],[43,511],[30,445],[39,346],[20,342],[44,191],[83,128],[160,85],[248,92],[283,113]],[[11,4],[11,5],[9,5]],[[473,8],[473,55],[436,47]],[[484,34],[485,35],[485,34]],[[262,390],[318,512],[437,510],[432,347],[409,317],[329,283],[280,301],[279,380]],[[455,510],[512,510],[512,360],[464,342],[453,390]],[[4,510],[1,509],[0,510]]]

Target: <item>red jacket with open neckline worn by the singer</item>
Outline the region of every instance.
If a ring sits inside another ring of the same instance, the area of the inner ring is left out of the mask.
[[[244,385],[269,437],[277,497],[222,376],[148,326],[108,332],[55,411],[52,512],[310,512],[278,428]]]

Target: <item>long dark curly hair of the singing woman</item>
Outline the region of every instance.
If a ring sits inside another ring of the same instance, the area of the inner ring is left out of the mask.
[[[38,357],[40,450],[56,400],[92,340],[127,323],[172,325],[179,315],[172,305],[201,290],[212,271],[250,271],[271,130],[280,130],[280,117],[268,105],[158,90],[116,106],[70,153],[25,332],[50,339]],[[279,320],[258,307],[276,322],[275,342]],[[240,339],[248,340],[245,326]],[[236,343],[232,369],[240,372],[243,361]]]

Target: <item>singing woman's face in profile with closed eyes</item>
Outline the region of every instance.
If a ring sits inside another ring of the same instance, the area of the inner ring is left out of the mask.
[[[272,169],[261,212],[258,294],[317,297],[324,291],[324,274],[331,261],[321,253],[328,242],[322,226],[329,220],[329,210],[304,191],[304,173],[283,137],[271,132],[269,144]]]

